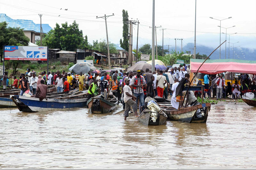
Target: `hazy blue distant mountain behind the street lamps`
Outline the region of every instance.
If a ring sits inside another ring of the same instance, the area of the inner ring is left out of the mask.
[[[222,45],[223,46],[223,45]],[[211,47],[206,47],[204,45],[197,45],[196,46],[196,53],[199,54],[205,54],[205,55],[211,55],[211,59],[225,59],[225,46],[224,48],[221,46],[221,54],[220,54],[220,49],[217,49],[214,53],[212,53],[212,51],[215,48],[211,48]],[[193,53],[192,49],[189,48],[194,48],[194,43],[187,43],[186,46],[182,47],[182,50],[185,51],[191,51],[191,54]],[[217,47],[216,47],[217,48]],[[166,47],[164,47],[164,49],[168,49]],[[174,47],[170,47],[170,51],[171,50],[175,50],[175,46]],[[240,50],[242,49],[242,50]],[[181,51],[181,47],[177,46],[177,51]],[[234,50],[235,51],[235,50]],[[229,58],[232,59],[233,58],[233,48],[230,47],[229,49]],[[238,56],[237,56],[238,55]],[[250,48],[236,48],[236,53],[234,53],[234,59],[241,59],[241,60],[256,60],[256,49],[250,49]],[[239,57],[239,58],[237,58]],[[226,54],[226,59],[228,59],[228,43],[227,43],[227,54]]]

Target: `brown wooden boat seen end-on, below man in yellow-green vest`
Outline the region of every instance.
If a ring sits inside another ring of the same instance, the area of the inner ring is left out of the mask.
[[[108,99],[105,100],[103,95],[92,97],[87,101],[87,106],[90,113],[109,113],[116,108],[117,103],[116,96],[108,95]]]

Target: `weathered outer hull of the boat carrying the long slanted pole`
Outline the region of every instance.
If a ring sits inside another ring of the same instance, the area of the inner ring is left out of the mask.
[[[204,108],[204,116],[202,118],[196,117],[197,109]],[[180,110],[166,111],[165,113],[169,120],[172,121],[181,121],[188,123],[205,123],[208,118],[208,112],[211,109],[210,103],[203,103],[200,105],[185,107]]]

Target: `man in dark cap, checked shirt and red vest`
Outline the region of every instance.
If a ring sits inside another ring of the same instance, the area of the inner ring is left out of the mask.
[[[137,98],[136,103],[138,104],[138,98],[140,98],[140,106],[144,106],[144,92],[143,92],[143,85],[146,85],[145,78],[140,75],[140,70],[137,70],[135,76],[132,77],[132,90],[133,95]]]

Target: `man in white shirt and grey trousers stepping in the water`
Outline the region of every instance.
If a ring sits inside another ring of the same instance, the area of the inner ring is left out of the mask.
[[[128,77],[126,77],[124,79],[124,103],[125,103],[125,110],[124,110],[124,120],[126,120],[126,117],[129,116],[129,111],[130,108],[132,107],[133,112],[135,113],[135,117],[139,117],[138,113],[137,113],[137,103],[134,100],[137,100],[136,96],[132,95],[132,90],[129,87],[130,84],[130,79]],[[142,92],[143,93],[143,92]],[[143,93],[144,95],[144,93]],[[144,102],[144,100],[143,100]]]

